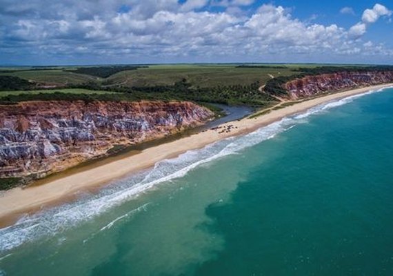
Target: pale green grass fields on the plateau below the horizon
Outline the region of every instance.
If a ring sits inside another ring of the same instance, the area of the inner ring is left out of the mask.
[[[114,74],[107,79],[90,75],[67,72],[63,69],[76,68],[75,66],[48,67],[48,70],[28,70],[23,68],[1,68],[2,70],[16,70],[15,72],[0,72],[2,75],[11,75],[50,85],[78,85],[94,82],[104,86],[120,85],[126,87],[171,86],[177,81],[186,79],[192,86],[201,88],[214,86],[250,85],[256,81],[261,86],[272,77],[290,76],[294,69],[314,68],[328,66],[321,64],[263,64],[248,63],[247,66],[263,66],[261,68],[238,68],[239,64],[159,64],[148,68],[128,70]],[[277,68],[284,67],[285,68]],[[331,65],[329,65],[331,66]],[[31,69],[31,68],[30,68]],[[44,68],[42,68],[44,69]],[[45,68],[46,69],[46,68]]]

